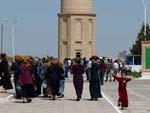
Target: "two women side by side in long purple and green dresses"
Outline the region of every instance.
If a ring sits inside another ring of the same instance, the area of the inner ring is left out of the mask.
[[[97,101],[98,98],[102,98],[101,94],[101,84],[100,84],[100,76],[99,76],[99,64],[98,57],[91,57],[92,68],[90,71],[90,80],[89,80],[89,91],[90,91],[90,100]],[[71,72],[73,74],[73,83],[77,95],[77,101],[80,101],[82,97],[83,91],[83,73],[84,66],[81,64],[80,59],[76,59],[74,65],[71,68]]]

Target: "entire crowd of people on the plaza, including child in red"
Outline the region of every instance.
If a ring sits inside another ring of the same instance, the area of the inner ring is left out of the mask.
[[[76,100],[80,101],[83,92],[83,74],[89,81],[90,100],[97,101],[98,98],[102,98],[101,85],[104,85],[104,81],[111,82],[113,79],[119,82],[118,106],[123,108],[128,107],[126,83],[131,79],[126,76],[118,77],[117,73],[122,70],[126,70],[125,66],[117,60],[97,56],[92,56],[89,60],[80,57],[72,60],[66,58],[63,62],[53,57],[34,59],[29,56],[16,56],[15,62],[10,66],[6,54],[1,54],[0,82],[3,92],[12,89],[10,73],[13,72],[15,98],[28,103],[32,101],[32,97],[37,96],[50,97],[52,100],[64,97],[64,84],[68,76],[73,77]],[[122,71],[121,75],[127,75],[126,71]],[[124,96],[125,101],[122,99]]]

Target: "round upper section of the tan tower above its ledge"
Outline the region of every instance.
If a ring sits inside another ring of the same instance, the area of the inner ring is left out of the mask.
[[[93,0],[61,1],[61,13],[93,13]]]

